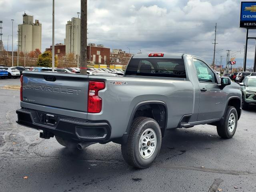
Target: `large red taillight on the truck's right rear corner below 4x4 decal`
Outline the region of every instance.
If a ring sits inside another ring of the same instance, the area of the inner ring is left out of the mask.
[[[88,88],[88,104],[87,112],[88,113],[99,113],[102,109],[102,99],[98,96],[99,90],[105,88],[104,82],[99,81],[89,81]]]

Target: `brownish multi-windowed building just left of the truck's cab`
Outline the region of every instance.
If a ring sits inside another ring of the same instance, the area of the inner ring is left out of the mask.
[[[110,64],[126,67],[131,57],[132,54],[126,53],[122,49],[113,49],[110,53]]]

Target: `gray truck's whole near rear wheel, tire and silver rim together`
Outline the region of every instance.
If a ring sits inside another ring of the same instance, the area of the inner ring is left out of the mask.
[[[136,118],[132,123],[128,141],[121,146],[124,160],[133,167],[147,168],[158,156],[161,142],[161,129],[154,119]]]

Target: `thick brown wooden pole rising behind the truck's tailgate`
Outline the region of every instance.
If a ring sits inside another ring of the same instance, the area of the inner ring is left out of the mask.
[[[80,74],[87,74],[87,0],[81,0]]]

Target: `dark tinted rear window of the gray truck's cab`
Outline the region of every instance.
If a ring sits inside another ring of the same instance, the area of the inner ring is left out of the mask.
[[[132,58],[125,75],[186,78],[186,70],[183,58]]]

